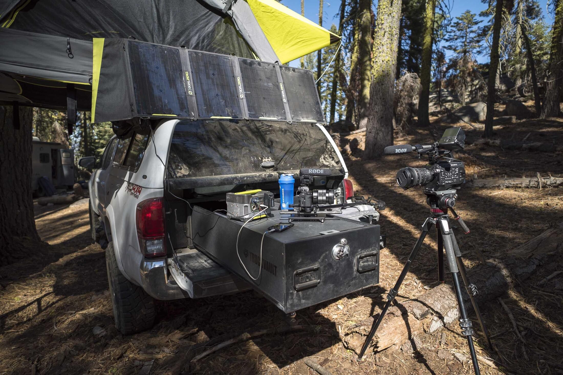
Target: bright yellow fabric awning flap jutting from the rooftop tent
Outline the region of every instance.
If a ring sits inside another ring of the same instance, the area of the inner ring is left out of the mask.
[[[275,0],[246,1],[281,63],[318,51],[340,39]]]

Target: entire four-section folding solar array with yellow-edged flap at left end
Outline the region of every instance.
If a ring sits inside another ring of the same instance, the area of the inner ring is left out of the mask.
[[[308,70],[131,39],[94,42],[92,117],[324,122]]]

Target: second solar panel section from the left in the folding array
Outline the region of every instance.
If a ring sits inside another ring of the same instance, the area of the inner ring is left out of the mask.
[[[199,117],[242,117],[231,57],[199,51],[188,56]]]

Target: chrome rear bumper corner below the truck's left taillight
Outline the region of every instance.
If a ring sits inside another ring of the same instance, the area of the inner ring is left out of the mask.
[[[187,298],[187,292],[181,289],[172,278],[168,278],[166,258],[141,260],[141,286],[153,298],[171,300]]]

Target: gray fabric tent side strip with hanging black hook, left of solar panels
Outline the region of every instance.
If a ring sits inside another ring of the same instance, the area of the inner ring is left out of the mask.
[[[72,54],[66,53],[69,44]],[[0,28],[0,51],[0,71],[83,84],[92,78],[88,40]]]

